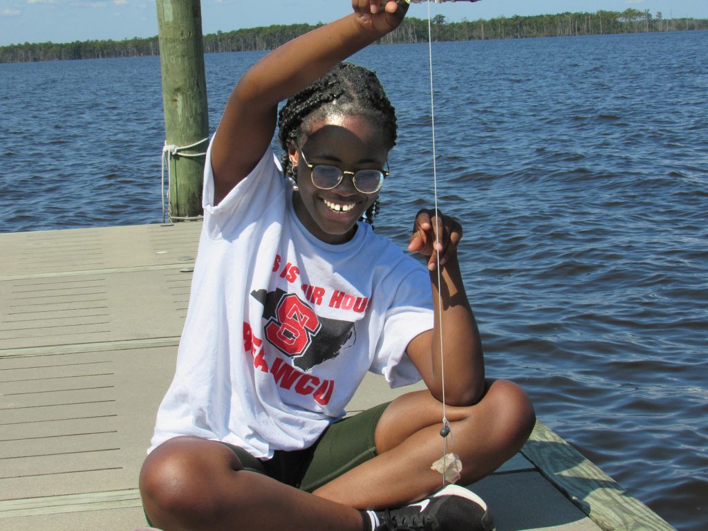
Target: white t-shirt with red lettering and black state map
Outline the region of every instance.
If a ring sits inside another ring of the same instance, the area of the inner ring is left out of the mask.
[[[216,206],[207,164],[203,191],[176,374],[149,451],[197,435],[270,458],[312,445],[367,371],[392,387],[420,379],[405,350],[433,328],[421,263],[366,223],[344,244],[316,239],[270,150]]]

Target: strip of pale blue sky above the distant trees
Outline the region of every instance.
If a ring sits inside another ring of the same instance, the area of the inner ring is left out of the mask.
[[[204,33],[258,25],[327,22],[350,11],[347,0],[201,0]],[[664,18],[708,18],[707,0],[484,0],[476,4],[433,5],[433,14],[462,18],[563,13],[600,9],[649,9]],[[425,4],[410,16],[424,18]],[[19,42],[149,37],[157,34],[155,0],[0,0],[0,46]]]

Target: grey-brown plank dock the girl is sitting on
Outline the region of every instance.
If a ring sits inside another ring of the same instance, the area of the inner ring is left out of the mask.
[[[201,224],[0,234],[0,529],[145,525]],[[395,396],[367,377],[350,411]],[[473,486],[498,531],[671,530],[541,423]]]

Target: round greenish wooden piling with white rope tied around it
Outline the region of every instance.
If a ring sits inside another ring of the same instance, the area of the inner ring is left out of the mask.
[[[200,0],[157,0],[162,102],[169,156],[169,216],[202,215],[202,173],[209,136]]]

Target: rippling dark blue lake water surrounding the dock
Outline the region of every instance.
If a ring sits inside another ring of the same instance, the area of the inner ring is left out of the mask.
[[[440,207],[488,374],[679,530],[708,528],[708,32],[441,43]],[[427,45],[377,230],[432,202]],[[208,55],[210,123],[259,53]],[[0,232],[161,222],[157,57],[0,64]]]

